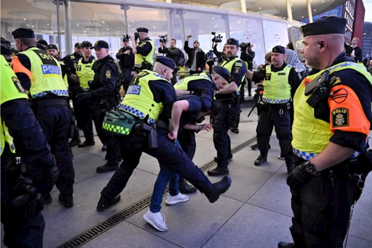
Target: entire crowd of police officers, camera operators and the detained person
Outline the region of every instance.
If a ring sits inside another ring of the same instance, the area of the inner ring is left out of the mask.
[[[203,72],[207,59],[199,42],[189,47],[190,36],[184,44],[187,60],[175,39],[169,48],[162,42],[159,52],[165,56],[154,58],[155,44],[146,28],[123,39],[116,55],[119,67],[105,41],[76,43],[74,53],[61,59],[57,46],[36,41],[32,29],[13,31],[17,54],[10,41],[0,39],[4,244],[42,247],[42,209],[52,202],[54,185],[61,205],[73,207],[71,147],[95,144],[93,123],[107,160],[96,171],[115,171],[97,199],[97,211],[121,200],[142,152],[160,166],[143,216],[155,229],[169,229],[161,213],[168,184],[168,205],[188,201],[187,194],[196,190],[216,202],[234,179],[228,170],[228,131],[238,133],[244,85],[251,95],[253,82],[260,106],[257,145],[252,146],[260,155],[254,165],[267,161],[275,127],[292,194],[294,242],[280,242],[278,247],[342,247],[350,209],[372,169],[367,139],[372,76],[360,64],[357,39],[345,48],[345,25],[346,19],[331,16],[302,26],[305,61],[299,60],[291,43],[286,48],[278,44],[257,71],[253,44],[242,48],[229,38],[222,52],[214,47],[218,64],[209,73]],[[190,75],[177,80],[182,65]],[[84,142],[78,129],[83,130]],[[213,130],[217,167],[207,173],[223,176],[217,183],[192,161],[195,133],[202,130]]]

